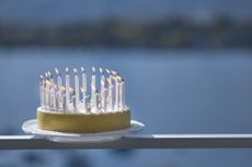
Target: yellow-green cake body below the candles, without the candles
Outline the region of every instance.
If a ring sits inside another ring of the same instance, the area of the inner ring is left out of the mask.
[[[37,109],[38,128],[70,133],[99,133],[130,127],[130,111],[62,114]]]

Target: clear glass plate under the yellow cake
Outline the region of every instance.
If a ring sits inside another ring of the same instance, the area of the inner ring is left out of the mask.
[[[37,128],[37,120],[32,119],[23,123],[22,129],[25,133],[35,134],[54,142],[67,142],[67,143],[95,143],[95,142],[110,142],[123,138],[129,132],[139,131],[145,127],[144,123],[136,120],[130,121],[130,128],[101,132],[101,133],[65,133],[56,131],[41,130]]]

